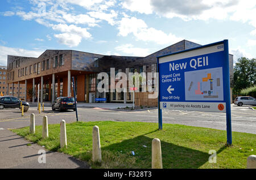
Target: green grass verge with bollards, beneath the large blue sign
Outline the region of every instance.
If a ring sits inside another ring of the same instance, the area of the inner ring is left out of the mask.
[[[95,125],[100,128],[101,164],[91,161]],[[233,145],[226,147],[226,131],[202,127],[164,124],[159,131],[157,123],[104,121],[68,123],[66,128],[68,148],[60,148],[60,125],[48,126],[47,139],[42,139],[42,126],[36,126],[35,135],[29,134],[29,127],[12,131],[51,151],[87,161],[92,168],[151,168],[154,138],[161,140],[163,168],[246,168],[247,157],[256,151],[255,134],[233,132]],[[208,162],[210,149],[217,152],[216,164]]]

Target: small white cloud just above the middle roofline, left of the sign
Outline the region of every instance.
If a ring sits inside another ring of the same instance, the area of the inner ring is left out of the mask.
[[[131,44],[125,44],[121,46],[115,47],[115,50],[121,51],[125,54],[133,55],[133,56],[139,56],[139,57],[145,57],[146,55],[149,55],[150,52],[146,48],[135,48]]]

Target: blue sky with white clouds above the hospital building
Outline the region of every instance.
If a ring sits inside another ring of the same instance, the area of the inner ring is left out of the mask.
[[[46,49],[146,56],[183,39],[256,58],[256,1],[1,0],[0,65]]]

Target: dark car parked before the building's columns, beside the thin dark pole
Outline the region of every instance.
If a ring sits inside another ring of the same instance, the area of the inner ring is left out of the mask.
[[[75,107],[75,98],[74,97],[57,97],[54,103],[52,104],[52,110],[59,109],[59,111],[73,109],[76,110]]]

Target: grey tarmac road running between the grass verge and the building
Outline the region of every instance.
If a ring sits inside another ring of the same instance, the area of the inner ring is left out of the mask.
[[[250,106],[231,105],[232,131],[256,134],[256,110]],[[42,125],[43,115],[47,115],[48,123],[60,123],[65,119],[67,123],[76,122],[73,110],[65,112],[52,111],[45,107],[44,112],[38,113],[36,107],[31,107],[24,117],[19,109],[0,110],[0,128],[19,128],[29,126],[30,114],[35,113],[36,125]],[[79,121],[139,121],[158,123],[158,109],[124,112],[101,108],[78,108]],[[215,128],[226,130],[226,114],[213,112],[195,112],[185,110],[163,110],[163,123]]]

